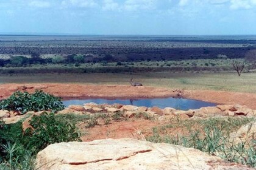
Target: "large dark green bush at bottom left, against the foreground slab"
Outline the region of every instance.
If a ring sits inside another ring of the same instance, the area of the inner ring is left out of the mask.
[[[80,141],[76,126],[54,114],[32,117],[30,125],[33,131],[23,132],[21,122],[0,121],[0,169],[33,169],[35,155],[49,144]]]

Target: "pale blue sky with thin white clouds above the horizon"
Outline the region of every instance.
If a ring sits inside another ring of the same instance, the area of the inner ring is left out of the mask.
[[[0,0],[0,33],[256,35],[256,0]]]

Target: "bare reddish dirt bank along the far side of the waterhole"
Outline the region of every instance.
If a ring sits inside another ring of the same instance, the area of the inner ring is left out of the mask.
[[[9,97],[16,90],[43,90],[63,98],[155,98],[176,97],[174,89],[132,86],[101,86],[87,84],[1,84],[0,99]],[[183,97],[218,104],[241,104],[256,109],[256,94],[222,92],[214,90],[184,90]]]

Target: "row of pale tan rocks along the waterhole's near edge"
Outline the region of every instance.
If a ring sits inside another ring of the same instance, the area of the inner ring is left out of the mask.
[[[43,111],[41,111],[43,112]],[[49,112],[47,110],[46,112]],[[166,107],[165,109],[160,109],[159,107],[138,107],[132,105],[122,105],[122,104],[96,104],[96,103],[85,103],[84,106],[81,105],[70,105],[64,110],[57,112],[57,114],[115,114],[116,112],[121,112],[123,117],[132,118],[136,115],[146,114],[150,117],[164,117],[164,116],[180,116],[182,118],[191,117],[214,117],[214,116],[246,116],[255,117],[256,110],[249,109],[246,106],[236,105],[218,105],[215,107],[201,107],[200,109],[190,109],[190,110],[176,110],[171,107]],[[0,110],[0,120],[5,123],[16,123],[22,118],[29,117],[35,112],[27,112],[24,115],[20,115],[18,112],[12,112],[8,110]],[[38,114],[38,113],[37,113]]]

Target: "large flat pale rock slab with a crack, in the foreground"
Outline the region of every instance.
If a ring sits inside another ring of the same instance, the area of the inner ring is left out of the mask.
[[[192,148],[132,138],[51,144],[36,169],[250,169]]]

